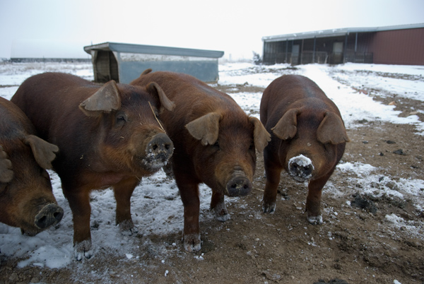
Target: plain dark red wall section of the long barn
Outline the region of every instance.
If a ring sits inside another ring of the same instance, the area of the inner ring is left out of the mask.
[[[424,65],[424,28],[376,32],[370,49],[375,64]]]

